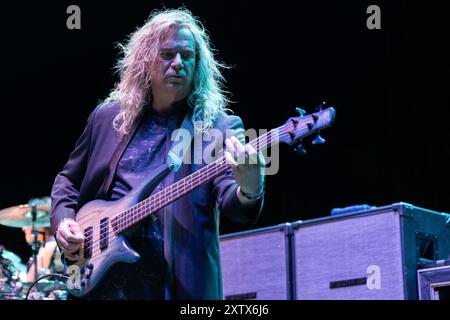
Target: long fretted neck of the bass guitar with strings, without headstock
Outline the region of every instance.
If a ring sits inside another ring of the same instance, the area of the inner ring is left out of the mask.
[[[255,150],[264,151],[269,146],[278,143],[278,136],[280,134],[287,134],[286,132],[289,128],[285,128],[286,126],[288,125],[272,129],[249,143],[255,148]],[[198,186],[203,185],[223,174],[227,169],[228,164],[226,163],[222,152],[222,155],[214,162],[204,166],[200,170],[197,170],[183,179],[180,179],[169,187],[151,195],[128,210],[118,214],[111,221],[115,232],[120,233],[125,231],[159,209],[164,208],[168,204],[191,192]]]

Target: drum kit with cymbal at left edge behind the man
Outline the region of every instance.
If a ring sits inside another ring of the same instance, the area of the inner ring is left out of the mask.
[[[38,253],[45,245],[39,240],[39,228],[50,228],[50,199],[38,199],[0,210],[0,225],[13,228],[31,227],[33,241],[30,244],[32,258],[29,267],[20,257],[0,245],[0,300],[65,300],[68,296],[62,274],[51,274],[51,270],[38,268]],[[39,203],[40,202],[40,203]],[[33,267],[33,268],[32,268]],[[27,282],[28,272],[33,270],[34,282]]]

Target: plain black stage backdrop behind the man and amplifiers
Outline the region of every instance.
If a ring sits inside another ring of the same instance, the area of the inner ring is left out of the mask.
[[[222,221],[222,233],[330,214],[335,207],[405,201],[450,212],[449,32],[443,1],[25,1],[2,4],[0,208],[50,194],[86,119],[118,80],[115,43],[153,9],[185,5],[232,65],[228,90],[248,128],[337,111],[323,146],[280,148],[257,225]],[[68,30],[66,9],[81,9]],[[381,9],[369,30],[367,7]],[[309,140],[310,141],[310,140]],[[30,255],[19,229],[0,244]]]

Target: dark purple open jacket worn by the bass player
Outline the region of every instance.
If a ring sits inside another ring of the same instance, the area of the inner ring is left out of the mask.
[[[108,199],[118,162],[134,134],[132,130],[120,136],[113,128],[119,108],[118,103],[104,104],[92,112],[69,160],[56,176],[51,193],[53,231],[63,218],[75,218],[87,202]],[[182,127],[193,134],[188,116]],[[222,131],[223,137],[226,129],[232,129],[241,142],[245,141],[243,124],[237,116],[221,113],[213,127]],[[208,143],[214,141],[203,142],[203,150]],[[177,181],[204,165],[183,164],[169,175],[169,180]],[[169,298],[222,299],[220,215],[240,223],[253,223],[263,205],[261,199],[255,207],[243,208],[236,196],[237,187],[228,170],[164,209],[165,256],[171,275]]]

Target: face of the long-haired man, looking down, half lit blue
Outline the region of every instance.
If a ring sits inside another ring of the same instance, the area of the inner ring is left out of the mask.
[[[162,42],[152,77],[154,95],[186,98],[195,70],[195,40],[187,28],[177,28]]]

